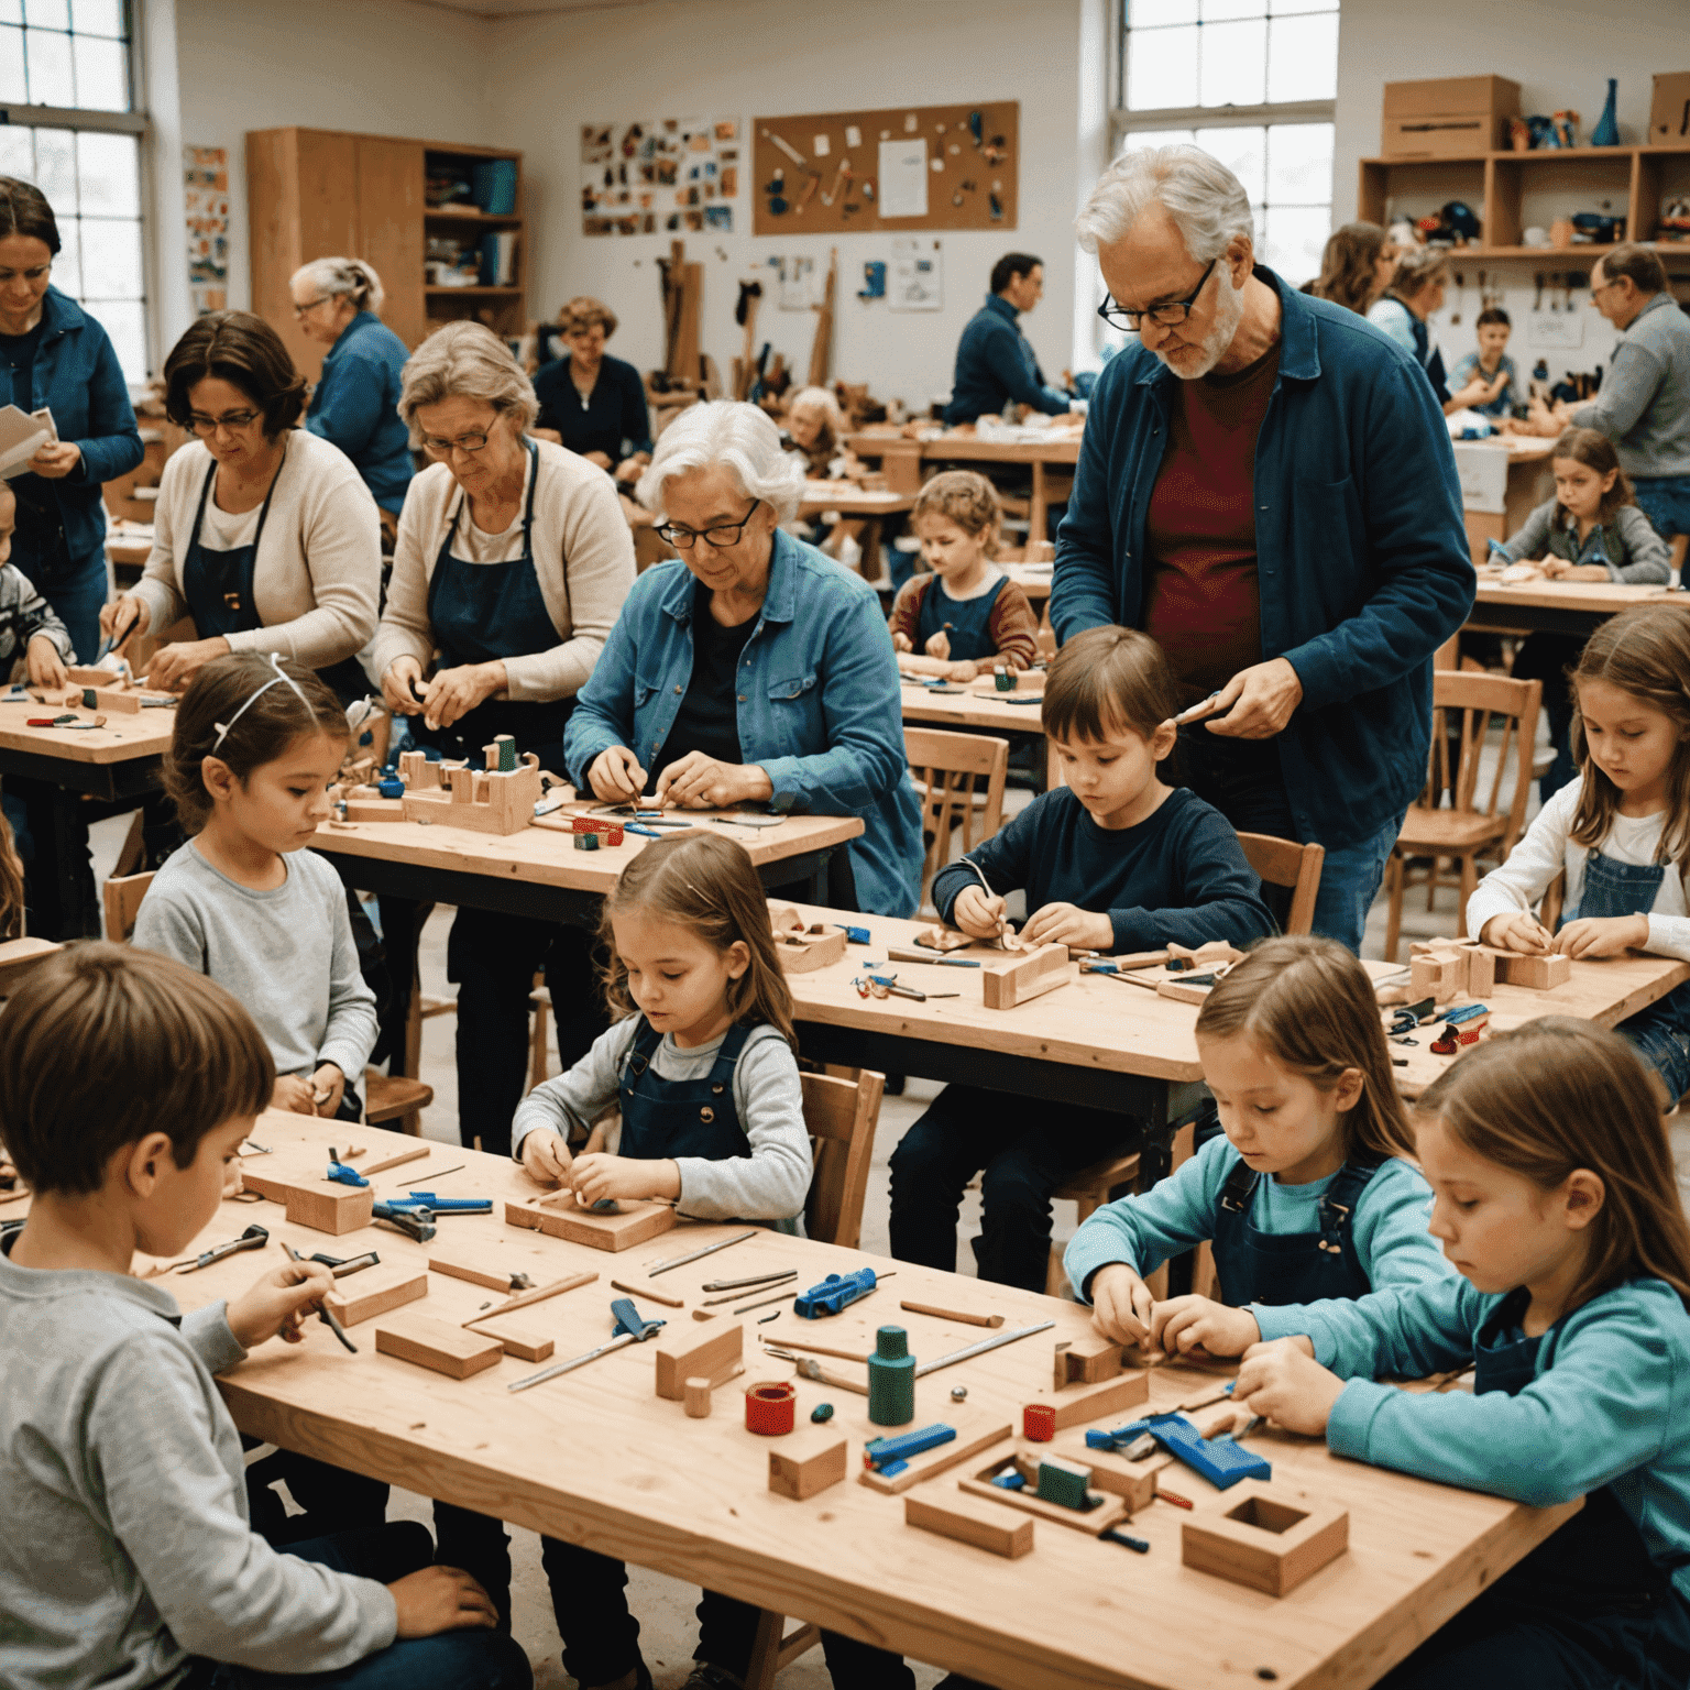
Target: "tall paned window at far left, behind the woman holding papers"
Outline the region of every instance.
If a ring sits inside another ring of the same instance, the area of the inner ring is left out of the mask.
[[[147,377],[140,142],[125,0],[0,0],[0,176],[52,204],[52,284],[112,336],[130,382]]]

